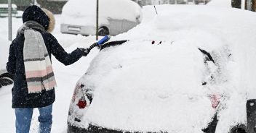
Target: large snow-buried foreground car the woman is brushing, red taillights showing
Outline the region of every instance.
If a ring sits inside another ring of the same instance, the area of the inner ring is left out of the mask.
[[[101,47],[76,84],[68,133],[255,132],[255,13],[156,9]]]

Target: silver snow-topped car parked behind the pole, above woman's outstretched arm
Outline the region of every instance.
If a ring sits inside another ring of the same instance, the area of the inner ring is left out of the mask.
[[[130,0],[99,1],[99,35],[127,32],[142,20],[140,6]],[[96,0],[69,0],[61,14],[61,33],[95,35]]]

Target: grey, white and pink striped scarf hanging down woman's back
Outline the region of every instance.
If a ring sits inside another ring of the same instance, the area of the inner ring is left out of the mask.
[[[52,63],[41,33],[31,28],[24,30],[23,58],[28,93],[41,93],[57,86]]]

